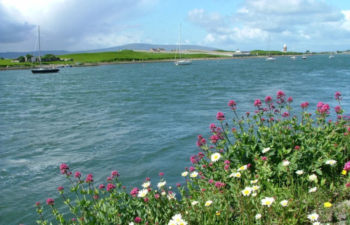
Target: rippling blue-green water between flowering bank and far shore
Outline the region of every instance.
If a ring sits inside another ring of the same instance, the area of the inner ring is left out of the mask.
[[[175,186],[197,153],[197,134],[210,135],[218,111],[232,117],[228,100],[243,114],[281,89],[297,114],[303,101],[311,112],[318,101],[333,108],[340,91],[349,113],[349,87],[348,54],[0,71],[0,223],[36,224],[35,201],[59,205],[57,186],[68,189],[62,162],[96,183],[118,170],[128,189],[140,188],[163,171]]]

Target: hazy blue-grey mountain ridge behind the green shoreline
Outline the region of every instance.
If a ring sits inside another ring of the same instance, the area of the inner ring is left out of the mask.
[[[150,48],[164,48],[165,50],[175,50],[176,45],[175,44],[147,44],[147,43],[131,43],[131,44],[125,44],[121,46],[116,47],[108,47],[108,48],[100,48],[100,49],[93,49],[93,50],[84,50],[84,51],[66,51],[66,50],[44,50],[41,51],[41,55],[45,54],[55,54],[55,55],[62,55],[62,54],[75,54],[75,53],[92,53],[92,52],[105,52],[105,51],[117,51],[117,50],[149,50]],[[188,44],[181,44],[181,49],[196,49],[196,50],[218,50],[218,48],[214,47],[205,47],[205,46],[199,46],[199,45],[188,45]],[[26,54],[31,55],[37,55],[38,51],[27,51],[27,52],[0,52],[0,57],[2,58],[16,58],[19,56],[25,56]]]

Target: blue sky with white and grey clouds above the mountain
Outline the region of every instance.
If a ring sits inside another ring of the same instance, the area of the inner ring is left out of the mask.
[[[0,0],[0,52],[128,43],[350,49],[350,0]],[[293,47],[294,46],[294,47]],[[37,49],[37,47],[36,47]]]

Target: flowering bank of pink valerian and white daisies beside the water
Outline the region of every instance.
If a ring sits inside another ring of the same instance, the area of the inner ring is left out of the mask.
[[[112,171],[106,187],[93,185],[92,175],[85,181],[68,166],[60,170],[70,183],[66,198],[69,208],[59,213],[47,199],[55,219],[61,224],[312,224],[313,221],[350,220],[350,120],[335,97],[337,120],[326,121],[329,105],[319,102],[314,116],[308,103],[302,103],[300,116],[290,117],[292,99],[277,92],[276,106],[260,100],[253,115],[236,114],[224,122],[218,112],[218,125],[210,124],[210,143],[198,135],[200,152],[190,157],[193,166],[181,175],[185,180],[175,193],[165,178],[153,186],[146,179],[140,190],[130,193]],[[268,96],[269,97],[269,96]],[[268,99],[266,97],[266,99]],[[307,103],[307,104],[306,104]],[[229,122],[229,123],[228,123]],[[348,165],[344,165],[347,163]],[[47,224],[42,206],[36,204],[39,224]],[[73,217],[73,220],[72,220]],[[182,223],[180,223],[182,222]]]

